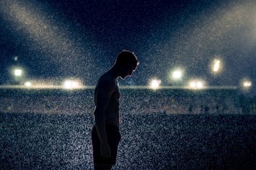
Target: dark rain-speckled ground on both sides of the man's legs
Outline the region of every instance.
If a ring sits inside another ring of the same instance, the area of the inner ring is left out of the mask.
[[[256,169],[256,115],[122,115],[113,169]],[[91,114],[0,113],[1,169],[92,169]]]

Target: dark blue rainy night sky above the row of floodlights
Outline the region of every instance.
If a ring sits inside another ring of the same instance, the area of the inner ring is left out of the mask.
[[[120,51],[140,66],[121,85],[147,85],[184,70],[209,86],[256,84],[256,1],[0,1],[0,84],[12,66],[27,79],[82,79],[93,86]],[[17,56],[17,61],[15,61]],[[211,62],[222,69],[213,75]]]

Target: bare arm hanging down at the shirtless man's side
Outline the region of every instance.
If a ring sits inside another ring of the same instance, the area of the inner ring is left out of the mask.
[[[115,91],[115,82],[104,79],[98,84],[97,101],[95,103],[94,119],[95,126],[100,138],[100,152],[104,157],[110,157],[110,147],[107,142],[106,122],[104,112],[109,104],[111,95]]]

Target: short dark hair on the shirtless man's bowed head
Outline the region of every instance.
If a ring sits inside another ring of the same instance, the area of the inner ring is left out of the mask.
[[[115,64],[118,66],[131,65],[134,66],[135,70],[139,62],[136,55],[133,52],[129,50],[123,50],[121,53],[118,54],[118,57],[116,57]]]

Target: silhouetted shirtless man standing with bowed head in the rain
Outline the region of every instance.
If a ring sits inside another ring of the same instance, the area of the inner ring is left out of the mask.
[[[134,53],[124,50],[116,57],[107,73],[104,73],[94,91],[94,121],[91,131],[93,143],[94,169],[112,169],[116,164],[119,132],[119,99],[118,77],[125,79],[131,76],[138,66]]]

